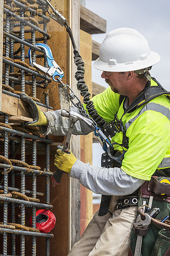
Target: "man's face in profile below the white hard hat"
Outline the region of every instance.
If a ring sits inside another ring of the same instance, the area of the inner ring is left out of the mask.
[[[126,95],[126,79],[125,73],[120,72],[103,72],[101,77],[105,79],[106,83],[111,87],[114,93]]]

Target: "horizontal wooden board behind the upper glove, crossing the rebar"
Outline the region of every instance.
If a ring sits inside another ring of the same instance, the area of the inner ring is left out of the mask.
[[[40,107],[41,111],[51,111],[47,108]],[[5,93],[2,93],[2,108],[1,111],[11,116],[26,116],[31,117],[28,111],[28,104],[22,100]]]

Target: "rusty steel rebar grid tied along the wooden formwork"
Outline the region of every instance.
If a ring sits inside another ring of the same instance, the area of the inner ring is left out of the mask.
[[[46,16],[47,5],[44,0],[37,0],[38,10],[36,9],[37,7],[33,8],[31,0],[30,4],[31,6],[29,6],[29,0],[6,0],[3,26],[3,44],[5,46],[3,52],[3,62],[5,63],[5,68],[3,70],[3,84],[9,85],[14,89],[13,91],[18,91],[18,88],[20,88],[19,90],[21,92],[26,92],[29,96],[37,98],[37,87],[41,88],[42,91],[45,90],[48,83],[51,82],[51,78],[41,74],[36,69],[32,70],[31,67],[29,68],[28,61],[28,66],[23,65],[22,62],[25,63],[25,60],[28,59],[27,47],[31,47],[32,60],[35,61],[37,58],[43,58],[44,66],[48,67],[44,52],[42,49],[36,47],[35,43],[37,41],[41,41],[44,44],[48,43],[50,35],[47,31],[47,23],[50,21],[50,18]],[[36,37],[37,32],[39,32],[39,37]],[[40,37],[40,34],[42,34],[42,37]],[[38,51],[38,53],[36,53],[36,51]],[[19,60],[21,62],[18,64],[13,60]],[[12,90],[8,91],[8,89],[3,88],[2,93],[20,99],[20,96],[12,92]],[[36,103],[39,106],[47,108],[47,110],[52,109],[49,106],[48,91],[45,92],[44,103],[37,101]],[[0,115],[4,115],[4,124],[11,125],[6,113],[1,113]],[[26,209],[31,207],[32,227],[36,228],[36,209],[53,208],[50,204],[50,177],[52,176],[52,173],[50,172],[49,165],[50,144],[52,141],[49,137],[44,138],[26,133],[24,124],[21,124],[20,127],[23,128],[23,130],[17,130],[17,128],[13,128],[13,126],[8,127],[0,124],[0,140],[4,143],[3,150],[1,150],[0,154],[8,159],[16,159],[17,157],[17,160],[26,162],[27,155],[30,154],[30,149],[27,151],[27,145],[29,145],[29,148],[30,146],[32,148],[32,160],[28,166],[31,165],[31,167],[18,166],[17,163],[13,162],[9,165],[7,162],[0,160],[0,189],[3,190],[4,194],[0,194],[0,206],[3,206],[0,207],[0,209],[3,209],[3,224],[7,224],[8,222],[16,223],[18,219],[16,214],[18,209],[20,209],[20,224],[25,225]],[[20,145],[20,156],[18,156],[18,145]],[[37,169],[37,147],[43,147],[45,150],[44,170]],[[28,181],[30,177],[32,190],[26,189],[26,181]],[[44,179],[43,177],[45,177],[45,204],[36,201],[38,200],[37,196],[44,195],[43,192],[37,192],[37,177],[40,177],[41,179]],[[16,187],[18,180],[20,180],[20,188]],[[23,197],[26,196],[26,194],[31,194],[33,201],[26,201],[24,198],[14,198],[13,196],[12,198],[8,197],[8,193],[10,192],[20,192]],[[9,209],[11,212],[10,215]],[[45,237],[46,242],[44,243],[44,251],[46,252],[46,256],[50,256],[50,238],[53,237],[53,234],[37,233],[23,229],[17,230],[17,228],[13,230],[2,227],[0,227],[0,234],[3,236],[3,249],[0,251],[0,255],[2,253],[3,256],[14,256],[17,253],[17,255],[20,254],[21,256],[25,256],[26,236],[32,236],[31,255],[36,256],[36,237],[40,236]],[[20,253],[17,252],[16,235],[19,235],[21,238]],[[11,241],[10,249],[8,245],[10,244],[8,242],[8,236],[11,236],[11,239],[9,239]]]

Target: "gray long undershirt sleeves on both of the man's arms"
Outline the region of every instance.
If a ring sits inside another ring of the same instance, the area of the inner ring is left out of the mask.
[[[75,107],[72,111],[79,112]],[[40,126],[41,133],[44,135],[66,135],[69,127],[69,119],[62,119],[61,111],[45,112],[49,125]],[[76,122],[73,134],[86,135],[94,131],[85,122]],[[71,177],[80,181],[86,188],[96,194],[102,195],[129,195],[138,189],[145,180],[132,177],[125,173],[121,168],[103,168],[91,166],[89,163],[82,163],[77,160],[72,166]]]

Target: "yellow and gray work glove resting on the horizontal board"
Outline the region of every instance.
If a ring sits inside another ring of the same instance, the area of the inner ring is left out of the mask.
[[[25,122],[25,125],[38,126],[38,125],[48,125],[48,120],[45,114],[40,110],[39,106],[25,93],[20,93],[21,99],[25,100],[29,105],[29,112],[31,118],[34,120],[32,122]]]

